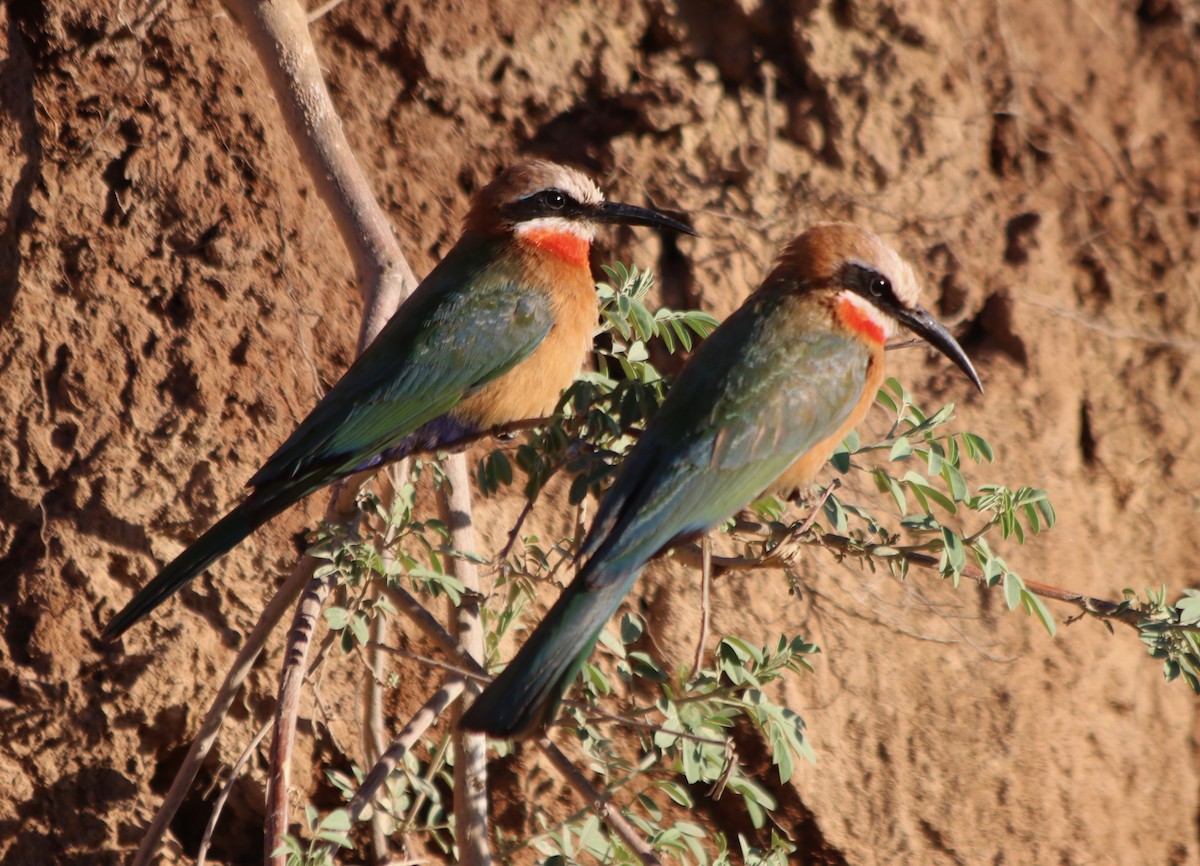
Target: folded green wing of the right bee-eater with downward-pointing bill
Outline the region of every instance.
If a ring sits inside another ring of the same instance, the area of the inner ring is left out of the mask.
[[[850,415],[865,348],[824,329],[797,333],[769,306],[743,307],[697,350],[605,494],[584,554],[644,561],[708,530]]]

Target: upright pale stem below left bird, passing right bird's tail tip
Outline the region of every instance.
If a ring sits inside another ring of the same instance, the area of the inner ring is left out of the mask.
[[[475,528],[470,521],[470,470],[464,455],[446,461],[446,482],[438,506],[442,519],[450,528],[450,543],[460,553],[478,549]],[[479,662],[484,661],[484,624],[479,600],[479,570],[466,557],[451,560],[455,577],[467,590],[457,609],[451,605],[458,645]],[[466,697],[474,700],[479,685],[466,684]],[[487,846],[487,738],[457,729],[462,715],[460,702],[452,714],[454,732],[454,816],[455,842],[458,862],[464,866],[490,866],[492,852]]]

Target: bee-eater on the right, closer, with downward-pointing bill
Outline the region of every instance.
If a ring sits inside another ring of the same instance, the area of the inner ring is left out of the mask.
[[[575,579],[461,726],[535,733],[590,655],[646,563],[764,492],[810,485],[866,414],[883,347],[905,325],[979,387],[966,353],[917,306],[912,269],[848,223],[817,225],[706,339],[596,510]]]

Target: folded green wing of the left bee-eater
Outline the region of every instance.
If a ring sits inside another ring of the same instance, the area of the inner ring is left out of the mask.
[[[457,248],[456,248],[457,249]],[[550,296],[503,259],[451,252],[251,479],[343,474],[529,356],[553,324]],[[481,263],[473,266],[474,263]],[[319,485],[318,485],[319,486]]]

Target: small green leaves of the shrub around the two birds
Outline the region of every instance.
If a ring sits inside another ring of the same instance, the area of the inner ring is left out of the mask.
[[[668,383],[652,357],[690,349],[716,324],[701,313],[652,313],[644,306],[653,284],[648,272],[620,265],[606,271],[610,282],[599,287],[606,336],[600,341],[598,369],[576,381],[544,427],[492,451],[476,467],[476,481],[486,495],[511,488],[522,477],[524,513],[559,475],[570,479],[571,506],[582,509],[589,493],[600,494],[666,392]],[[864,444],[852,434],[833,457],[840,473],[869,479],[877,497],[850,501],[841,491],[829,489],[816,513],[803,523],[782,503],[768,498],[754,506],[760,518],[756,527],[730,522],[721,531],[731,535],[745,557],[769,565],[791,561],[776,559],[786,545],[811,545],[815,552],[852,557],[864,567],[887,569],[899,578],[913,564],[936,569],[954,585],[971,576],[997,587],[1010,609],[1032,614],[1054,633],[1054,619],[1042,600],[994,547],[1022,543],[1054,525],[1055,511],[1045,491],[977,481],[994,451],[982,437],[954,428],[953,405],[925,413],[895,379],[880,391],[878,402],[892,419],[886,435]],[[346,601],[326,612],[347,651],[366,643],[372,618],[392,614],[384,596],[371,588],[373,582],[400,582],[418,594],[444,595],[456,602],[462,597],[448,563],[469,554],[449,547],[439,522],[418,519],[415,513],[414,485],[424,471],[439,480],[436,463],[418,464],[414,483],[400,492],[389,513],[378,513],[378,503],[367,501],[367,509],[384,518],[377,537],[322,540],[328,569],[336,570],[347,588]],[[528,625],[539,585],[569,579],[586,529],[582,513],[576,523],[572,535],[539,539],[523,533],[518,522],[509,545],[490,564],[496,571],[494,589],[484,607],[490,667],[500,660],[504,636]],[[787,579],[800,585],[791,567]],[[1144,639],[1164,658],[1168,676],[1182,676],[1198,687],[1200,593],[1189,593],[1174,606],[1166,603],[1165,593],[1145,603],[1130,596],[1126,606],[1142,611]],[[745,769],[737,744],[757,738],[780,783],[794,775],[799,760],[812,758],[804,721],[781,702],[781,686],[811,669],[818,648],[793,635],[770,639],[724,636],[697,669],[691,669],[690,660],[677,660],[668,669],[647,650],[648,627],[638,617],[625,614],[618,629],[602,633],[600,649],[584,666],[582,682],[563,712],[575,751],[605,778],[606,794],[613,798],[610,807],[623,802],[624,816],[660,855],[680,864],[782,866],[792,846],[773,824],[772,783]],[[452,844],[449,753],[446,734],[427,736],[374,804],[389,813],[398,831],[425,834],[443,850]],[[352,768],[329,777],[348,799],[364,771]],[[756,828],[755,838],[730,840],[691,819],[691,811],[702,807],[703,800],[722,795],[737,798]],[[530,804],[539,831],[527,838],[497,838],[494,849],[500,858],[533,850],[542,862],[556,866],[637,862],[632,852],[605,832],[589,806],[581,804],[563,819]],[[349,844],[352,828],[336,816],[336,811],[325,818],[311,816],[311,835]],[[295,862],[312,856],[296,840],[289,846]]]

